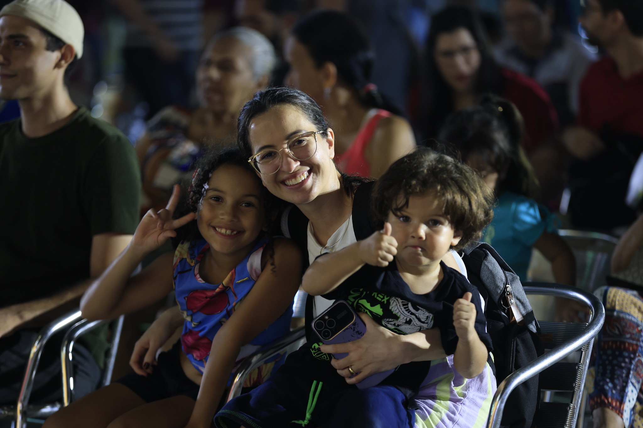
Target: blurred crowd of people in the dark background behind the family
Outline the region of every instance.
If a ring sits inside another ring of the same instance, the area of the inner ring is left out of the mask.
[[[560,209],[565,224],[574,227],[622,232],[634,219],[622,201],[640,151],[640,126],[606,111],[611,105],[601,106],[611,96],[625,115],[634,117],[637,107],[607,89],[623,83],[599,73],[598,65],[584,79],[613,37],[601,33],[606,24],[595,22],[593,3],[76,3],[71,2],[86,28],[86,53],[71,72],[71,98],[136,145],[143,212],[167,201],[170,185],[201,148],[233,142],[237,113],[256,90],[292,85],[316,99],[340,131],[340,157],[362,139],[367,123],[366,128],[386,127],[389,121],[377,125],[380,110],[392,114],[392,128],[383,137],[390,144],[365,145],[372,171],[352,171],[375,177],[412,144],[431,146],[451,112],[475,104],[482,94],[496,94],[521,114],[520,144],[540,184],[536,201]],[[316,9],[345,14],[302,21]],[[613,61],[603,58],[599,64],[609,69]],[[17,114],[13,101],[0,117]],[[599,151],[604,156],[594,165],[589,158]],[[612,182],[618,182],[613,191]],[[593,203],[595,186],[609,200]]]

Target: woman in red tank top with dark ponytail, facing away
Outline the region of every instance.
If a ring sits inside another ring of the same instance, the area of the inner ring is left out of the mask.
[[[336,131],[341,171],[377,178],[413,150],[410,124],[370,83],[374,52],[359,22],[336,11],[313,13],[295,24],[285,58],[287,83],[314,98]]]

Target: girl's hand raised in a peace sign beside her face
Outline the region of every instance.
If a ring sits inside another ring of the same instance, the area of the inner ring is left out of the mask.
[[[144,253],[152,252],[171,237],[175,237],[176,228],[186,225],[196,218],[196,213],[190,212],[190,214],[186,214],[181,218],[172,219],[176,205],[179,203],[180,193],[181,186],[174,185],[170,201],[168,201],[164,209],[159,212],[154,212],[154,209],[150,209],[145,213],[141,223],[136,228],[136,232],[134,232],[132,246],[136,246],[139,251]]]

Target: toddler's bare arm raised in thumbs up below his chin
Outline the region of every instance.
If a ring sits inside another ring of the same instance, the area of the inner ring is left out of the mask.
[[[363,241],[312,262],[303,275],[302,287],[313,296],[329,293],[364,264],[384,267],[393,261],[395,254],[397,241],[391,236],[390,223],[386,223],[383,232],[375,232]]]

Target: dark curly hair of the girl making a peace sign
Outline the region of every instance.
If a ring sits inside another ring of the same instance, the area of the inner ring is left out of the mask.
[[[192,178],[184,180],[181,185],[181,200],[179,207],[174,212],[174,218],[180,218],[189,212],[197,212],[206,191],[205,185],[210,180],[213,171],[223,165],[234,165],[247,169],[248,173],[257,179],[266,213],[267,234],[278,234],[279,225],[276,225],[275,219],[283,201],[267,191],[253,167],[248,163],[248,157],[237,147],[210,146],[204,151],[194,164]],[[190,221],[185,226],[178,228],[176,233],[176,237],[172,239],[174,246],[177,246],[181,241],[195,241],[203,238],[196,221]]]

